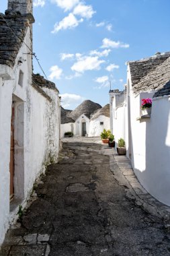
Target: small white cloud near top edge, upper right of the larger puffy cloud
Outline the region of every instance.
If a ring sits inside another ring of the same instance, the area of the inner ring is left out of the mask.
[[[92,18],[95,11],[91,5],[84,5],[83,3],[79,3],[73,10],[73,14],[80,15],[83,18],[90,19]]]

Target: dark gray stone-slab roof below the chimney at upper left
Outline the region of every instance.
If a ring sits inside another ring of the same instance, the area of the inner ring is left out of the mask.
[[[3,18],[2,16],[3,15]],[[5,11],[5,15],[1,13],[0,15],[0,64],[7,65],[9,67],[13,67],[15,64],[15,59],[17,57],[17,53],[22,46],[22,42],[26,36],[26,30],[29,22],[29,18],[27,15],[22,15],[13,11]],[[5,22],[5,20],[7,23]],[[15,32],[14,36],[11,29]]]

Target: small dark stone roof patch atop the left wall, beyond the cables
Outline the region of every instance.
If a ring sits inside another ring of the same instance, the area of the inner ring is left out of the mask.
[[[32,84],[37,84],[42,88],[45,87],[48,89],[56,90],[56,92],[58,92],[58,89],[56,88],[56,85],[53,82],[48,81],[42,75],[39,74],[32,74]]]

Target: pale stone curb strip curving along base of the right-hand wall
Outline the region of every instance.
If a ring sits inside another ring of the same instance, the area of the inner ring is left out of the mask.
[[[116,150],[112,148],[105,147],[101,153],[110,156],[110,170],[119,185],[126,187],[126,197],[134,200],[136,205],[142,207],[149,214],[163,219],[165,228],[169,228],[170,207],[155,199],[140,185],[130,160],[126,156],[118,156]]]

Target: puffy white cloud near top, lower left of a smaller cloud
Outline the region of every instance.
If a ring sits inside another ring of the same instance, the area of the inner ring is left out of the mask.
[[[67,28],[75,28],[79,25],[80,22],[83,22],[82,18],[81,20],[77,20],[73,13],[69,13],[67,17],[54,24],[54,30],[52,30],[52,33],[57,33],[59,30],[66,30]]]

